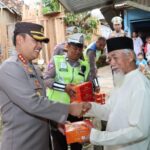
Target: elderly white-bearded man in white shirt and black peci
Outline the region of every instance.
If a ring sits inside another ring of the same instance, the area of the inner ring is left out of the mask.
[[[150,82],[136,69],[132,39],[112,38],[107,40],[107,46],[116,87],[105,105],[91,103],[87,114],[108,120],[107,129],[92,128],[86,140],[104,145],[105,150],[148,150]]]

